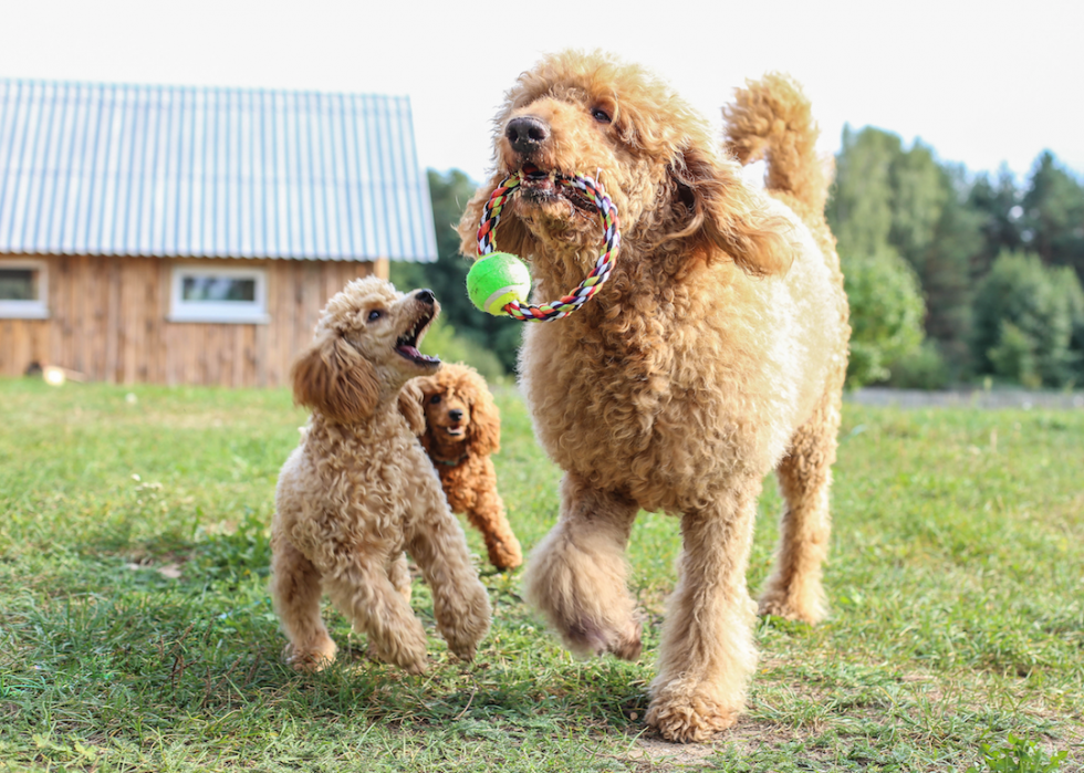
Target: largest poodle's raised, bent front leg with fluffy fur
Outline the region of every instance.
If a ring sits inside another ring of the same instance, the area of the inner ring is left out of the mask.
[[[525,585],[528,600],[573,651],[639,657],[625,560],[638,511],[635,502],[592,489],[571,472],[561,483],[561,516],[534,549]]]

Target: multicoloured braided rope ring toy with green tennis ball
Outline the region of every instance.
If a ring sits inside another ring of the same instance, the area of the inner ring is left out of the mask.
[[[478,228],[479,258],[467,273],[467,294],[470,295],[475,306],[494,316],[507,315],[520,322],[550,322],[576,311],[609,279],[617,251],[621,249],[617,207],[606,196],[602,184],[586,175],[575,177],[559,175],[556,177],[559,185],[582,192],[598,209],[606,244],[595,262],[595,268],[572,293],[559,301],[536,306],[529,304],[531,274],[527,265],[509,252],[494,252],[493,237],[508,197],[519,189],[524,175],[531,177],[538,174],[536,169],[528,167],[522,171],[512,173],[497,186],[482,210],[481,226]]]

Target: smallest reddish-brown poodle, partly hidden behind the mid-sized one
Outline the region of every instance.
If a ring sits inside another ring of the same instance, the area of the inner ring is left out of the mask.
[[[497,471],[490,453],[500,450],[501,415],[477,370],[445,365],[435,376],[416,378],[426,431],[421,446],[440,476],[452,512],[463,513],[486,539],[489,563],[509,570],[523,563],[520,542],[497,493]]]

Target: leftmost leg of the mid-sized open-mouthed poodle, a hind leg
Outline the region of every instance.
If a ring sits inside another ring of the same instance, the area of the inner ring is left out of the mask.
[[[286,662],[319,671],[335,660],[335,643],[320,618],[320,572],[286,540],[277,540],[271,557],[271,597],[290,644]]]

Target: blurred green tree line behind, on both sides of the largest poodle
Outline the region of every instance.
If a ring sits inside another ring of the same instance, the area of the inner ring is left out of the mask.
[[[938,388],[987,377],[1084,384],[1084,181],[1044,152],[1018,180],[971,174],[921,142],[845,127],[827,219],[853,327],[848,384]],[[490,378],[515,368],[521,325],[482,314],[465,290],[454,230],[476,184],[429,170],[439,259],[396,263],[399,286],[444,307],[428,346]]]

